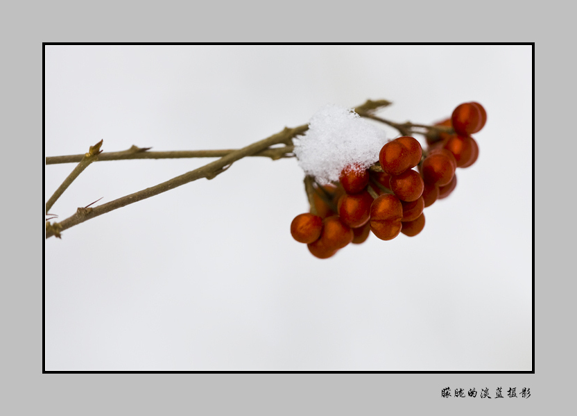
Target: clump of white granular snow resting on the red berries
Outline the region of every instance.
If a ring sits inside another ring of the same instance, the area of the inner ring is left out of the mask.
[[[294,143],[300,167],[325,184],[338,181],[347,166],[367,169],[377,162],[386,133],[354,110],[328,104],[313,115],[309,130]]]

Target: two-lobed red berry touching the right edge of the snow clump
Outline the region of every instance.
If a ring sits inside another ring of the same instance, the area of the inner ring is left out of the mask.
[[[379,153],[379,163],[384,172],[399,175],[415,167],[421,160],[421,144],[410,136],[397,138],[386,143]]]

